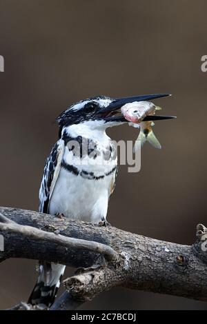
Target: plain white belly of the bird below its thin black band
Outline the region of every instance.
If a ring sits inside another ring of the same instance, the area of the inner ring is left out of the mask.
[[[84,179],[61,168],[50,199],[49,212],[73,219],[99,223],[106,218],[108,190],[114,174],[99,180]]]

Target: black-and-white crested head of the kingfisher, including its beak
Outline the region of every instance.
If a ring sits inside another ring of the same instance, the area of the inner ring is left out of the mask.
[[[106,129],[114,125],[128,122],[120,113],[120,108],[126,103],[144,100],[150,101],[168,95],[169,94],[148,94],[144,96],[116,99],[105,96],[93,97],[71,105],[57,117],[57,122],[59,123],[60,132],[67,126],[77,124],[88,125],[90,129]],[[168,116],[153,116],[153,118],[151,116],[150,120],[169,118]]]

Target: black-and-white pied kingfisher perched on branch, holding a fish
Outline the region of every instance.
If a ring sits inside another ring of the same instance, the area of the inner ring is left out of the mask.
[[[108,199],[115,188],[117,175],[115,145],[106,134],[106,128],[128,122],[118,114],[124,104],[166,96],[168,94],[121,99],[94,97],[79,101],[62,112],[57,118],[59,140],[43,172],[39,212],[106,223]],[[167,118],[170,117],[150,116],[150,120]],[[65,267],[41,262],[29,303],[50,307]]]

